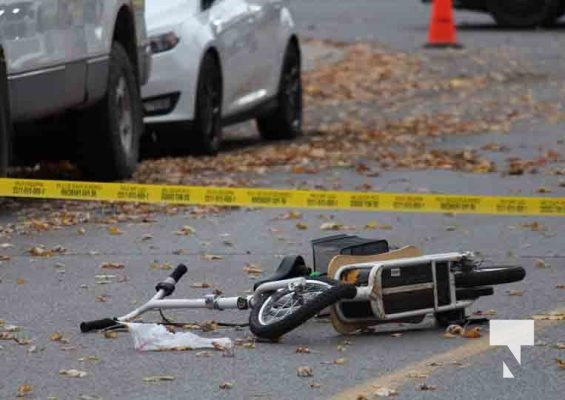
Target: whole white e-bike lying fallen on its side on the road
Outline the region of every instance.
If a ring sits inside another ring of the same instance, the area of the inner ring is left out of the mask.
[[[278,339],[328,308],[340,333],[391,322],[419,323],[428,314],[447,325],[464,320],[465,309],[479,297],[492,295],[493,285],[526,275],[519,266],[482,267],[470,252],[422,255],[412,246],[389,251],[386,242],[377,249],[375,241],[349,246],[357,239],[366,241],[349,235],[313,241],[314,266],[322,271],[312,271],[301,256],[287,256],[275,274],[256,282],[247,296],[167,299],[187,272],[179,265],[157,284],[157,293],[147,303],[122,317],[83,322],[80,329],[107,329],[147,311],[184,308],[250,310],[251,332],[265,339]],[[320,261],[327,259],[320,268]]]

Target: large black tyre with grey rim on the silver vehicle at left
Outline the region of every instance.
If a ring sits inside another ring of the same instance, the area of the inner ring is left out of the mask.
[[[143,111],[135,69],[118,42],[110,53],[106,95],[78,116],[78,125],[78,164],[88,178],[131,177],[139,161]]]

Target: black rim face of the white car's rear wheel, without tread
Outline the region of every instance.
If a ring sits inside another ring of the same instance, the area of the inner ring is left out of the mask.
[[[296,54],[288,57],[282,80],[282,96],[287,121],[294,130],[299,130],[302,125],[302,81],[300,62]]]

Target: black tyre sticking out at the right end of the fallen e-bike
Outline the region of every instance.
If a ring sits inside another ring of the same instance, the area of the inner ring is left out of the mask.
[[[501,285],[524,279],[526,271],[518,266],[499,266],[478,268],[469,272],[455,274],[455,286],[469,288],[475,286]]]

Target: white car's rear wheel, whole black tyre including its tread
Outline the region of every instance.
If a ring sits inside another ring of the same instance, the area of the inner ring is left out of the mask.
[[[302,77],[300,50],[290,44],[286,50],[277,96],[277,107],[257,118],[264,139],[293,139],[302,133]]]

